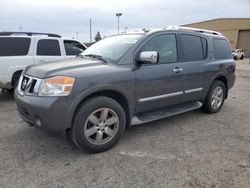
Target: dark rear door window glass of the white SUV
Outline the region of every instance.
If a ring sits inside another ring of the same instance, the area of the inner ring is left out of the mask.
[[[60,56],[58,40],[42,39],[38,41],[36,55]]]

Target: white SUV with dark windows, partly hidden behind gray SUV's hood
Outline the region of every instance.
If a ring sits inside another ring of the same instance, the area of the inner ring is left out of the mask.
[[[15,88],[28,65],[69,59],[85,49],[79,41],[57,34],[0,32],[0,88]]]

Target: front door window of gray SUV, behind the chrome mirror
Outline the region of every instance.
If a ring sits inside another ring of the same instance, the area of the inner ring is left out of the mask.
[[[155,36],[142,47],[142,51],[157,51],[158,63],[174,63],[177,61],[176,37],[174,34]]]

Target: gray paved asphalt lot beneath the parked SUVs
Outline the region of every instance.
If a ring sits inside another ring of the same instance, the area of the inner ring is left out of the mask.
[[[237,63],[235,87],[218,114],[196,110],[136,126],[95,155],[28,127],[13,97],[0,93],[0,187],[249,187],[248,61]]]

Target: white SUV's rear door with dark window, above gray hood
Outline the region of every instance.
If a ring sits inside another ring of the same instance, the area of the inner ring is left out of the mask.
[[[64,59],[58,39],[37,39],[34,52],[35,63],[45,63]]]

